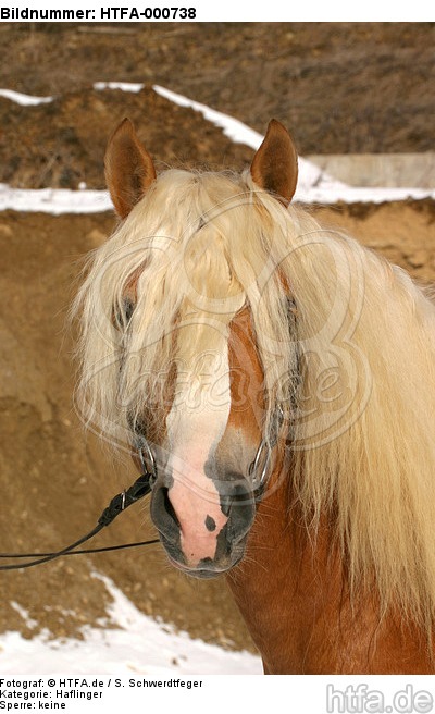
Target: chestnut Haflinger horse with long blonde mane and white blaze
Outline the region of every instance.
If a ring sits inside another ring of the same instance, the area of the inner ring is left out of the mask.
[[[121,123],[80,409],[152,460],[169,561],[225,574],[266,674],[433,673],[435,307],[290,204],[297,174],[275,120],[241,175],[157,175]]]

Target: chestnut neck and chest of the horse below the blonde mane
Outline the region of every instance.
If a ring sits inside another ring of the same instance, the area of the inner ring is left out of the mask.
[[[332,522],[310,533],[290,484],[274,475],[245,558],[227,576],[264,672],[434,672],[424,635],[397,615],[381,620],[374,590],[350,596]]]

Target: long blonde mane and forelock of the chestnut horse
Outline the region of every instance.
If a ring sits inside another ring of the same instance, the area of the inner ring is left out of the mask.
[[[130,442],[144,409],[164,413],[174,398],[174,364],[200,389],[244,306],[264,371],[262,428],[279,404],[307,518],[315,528],[334,514],[353,590],[375,581],[384,612],[397,603],[430,627],[434,305],[403,271],[284,208],[248,173],[164,172],[91,256],[74,308],[86,423]]]

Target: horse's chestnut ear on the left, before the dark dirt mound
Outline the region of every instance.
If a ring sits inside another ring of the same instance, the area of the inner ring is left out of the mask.
[[[105,183],[116,213],[126,218],[156,178],[156,169],[129,119],[113,132],[104,156]]]

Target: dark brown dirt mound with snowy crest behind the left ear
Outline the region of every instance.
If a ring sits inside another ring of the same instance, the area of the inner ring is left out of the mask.
[[[201,114],[177,107],[151,87],[140,93],[87,88],[50,103],[20,107],[0,97],[0,182],[16,187],[104,188],[103,157],[110,133],[125,118],[162,168],[241,169],[252,156]]]

